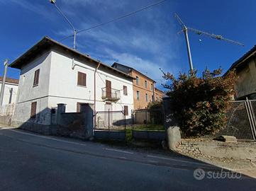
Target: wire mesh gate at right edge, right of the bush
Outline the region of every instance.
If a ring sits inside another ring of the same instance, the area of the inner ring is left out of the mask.
[[[227,126],[216,134],[239,140],[256,140],[256,100],[232,101],[227,112]]]

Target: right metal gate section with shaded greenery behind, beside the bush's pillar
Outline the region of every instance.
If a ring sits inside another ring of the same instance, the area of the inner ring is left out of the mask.
[[[146,130],[164,130],[165,116],[162,109],[134,110],[132,128]]]

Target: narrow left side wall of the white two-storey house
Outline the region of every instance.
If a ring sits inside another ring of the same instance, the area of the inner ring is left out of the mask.
[[[30,120],[31,103],[37,102],[36,122],[50,125],[50,109],[48,108],[50,62],[51,53],[48,52],[21,68],[13,121],[28,122]],[[40,69],[38,86],[33,86],[35,71],[37,69]]]

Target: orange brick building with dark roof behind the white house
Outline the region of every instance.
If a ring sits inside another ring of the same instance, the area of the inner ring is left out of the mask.
[[[134,109],[140,110],[148,107],[148,103],[164,95],[155,88],[155,81],[140,71],[119,63],[113,63],[112,67],[132,76],[133,79],[133,103]]]

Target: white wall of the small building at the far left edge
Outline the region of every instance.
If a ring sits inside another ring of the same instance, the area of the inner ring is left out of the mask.
[[[0,89],[1,89],[1,86],[2,86],[2,81],[0,82]],[[18,94],[18,84],[6,82],[4,86],[3,105],[16,103],[17,94]]]

